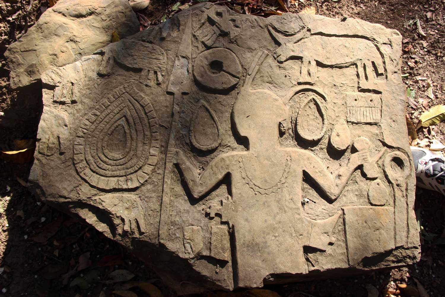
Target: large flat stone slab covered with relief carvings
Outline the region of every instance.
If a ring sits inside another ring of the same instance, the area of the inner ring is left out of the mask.
[[[199,4],[44,73],[30,181],[178,293],[416,262],[401,36]]]

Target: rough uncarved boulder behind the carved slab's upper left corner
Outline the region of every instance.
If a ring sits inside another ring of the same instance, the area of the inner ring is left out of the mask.
[[[91,55],[111,42],[139,31],[128,0],[63,0],[48,8],[5,53],[11,87],[28,85],[46,70]]]

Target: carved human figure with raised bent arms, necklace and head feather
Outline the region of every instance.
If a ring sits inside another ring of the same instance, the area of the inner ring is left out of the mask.
[[[347,166],[331,175],[312,152],[279,145],[279,122],[287,117],[286,106],[268,90],[250,90],[265,56],[261,53],[256,65],[254,61],[233,107],[236,130],[248,138],[248,150],[219,155],[201,175],[182,151],[175,160],[195,198],[208,194],[224,176],[230,176],[227,186],[231,187],[234,209],[227,221],[235,233],[238,282],[247,287],[261,286],[271,271],[307,272],[303,246],[325,250],[330,242],[326,234],[332,233],[339,215],[323,221],[303,217],[303,172],[332,203],[363,164],[354,153]],[[320,236],[312,238],[314,225]]]

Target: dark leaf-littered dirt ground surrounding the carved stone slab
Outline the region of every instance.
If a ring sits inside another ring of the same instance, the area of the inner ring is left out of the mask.
[[[148,23],[141,16],[140,19],[147,25],[157,24],[164,16],[170,16],[171,7],[176,2],[152,0],[149,7],[140,12],[146,16]],[[192,1],[183,0],[182,4],[188,2]],[[234,2],[233,0],[232,4]],[[445,104],[445,1],[291,0],[290,3],[293,12],[313,6],[316,13],[323,16],[360,18],[398,30],[403,35],[403,79],[407,87],[415,91],[414,100],[418,102],[407,108],[407,116],[415,125],[422,112],[437,104]],[[236,9],[244,12],[243,4],[234,5],[239,5]],[[23,142],[14,140],[36,137],[42,110],[39,85],[32,85],[20,91],[9,89],[9,69],[3,54],[8,45],[26,32],[48,6],[47,0],[0,1],[2,151],[15,150],[23,145]],[[416,19],[419,20],[426,36],[419,33],[414,22]],[[430,87],[433,96],[429,96]],[[421,129],[418,134],[419,140],[436,139],[445,143],[445,122]],[[27,180],[32,165],[32,150],[20,158],[6,158],[4,154],[1,158],[0,297],[102,297],[113,296],[113,291],[129,288],[136,295],[125,296],[141,297],[154,295],[151,285],[161,289],[164,296],[172,294],[155,273],[119,244],[45,205],[28,191],[23,184],[26,185],[24,181]],[[422,258],[419,263],[355,277],[332,276],[332,279],[327,280],[274,285],[264,289],[272,290],[283,297],[374,297],[377,295],[368,295],[366,289],[366,286],[372,285],[378,289],[380,296],[387,293],[396,297],[424,297],[427,296],[425,293],[431,297],[445,296],[442,284],[445,280],[445,197],[437,192],[417,189],[415,209],[422,228]],[[131,277],[130,281],[107,281],[117,269],[125,270],[126,275]],[[408,284],[408,288],[417,289],[411,293],[404,293],[403,290],[398,292],[395,283]],[[147,287],[152,290],[147,290]],[[393,290],[384,291],[388,287]],[[422,288],[425,288],[426,292],[422,291]]]

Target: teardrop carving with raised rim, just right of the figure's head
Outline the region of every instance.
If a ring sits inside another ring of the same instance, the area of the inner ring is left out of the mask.
[[[295,123],[298,134],[308,140],[316,141],[323,137],[326,131],[325,107],[315,96],[304,102],[297,114]]]

